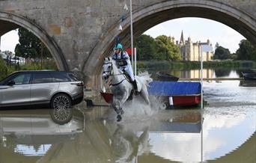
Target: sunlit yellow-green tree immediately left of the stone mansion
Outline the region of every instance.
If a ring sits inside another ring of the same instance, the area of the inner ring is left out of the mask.
[[[180,61],[180,49],[171,42],[171,37],[161,35],[156,37],[156,59]]]

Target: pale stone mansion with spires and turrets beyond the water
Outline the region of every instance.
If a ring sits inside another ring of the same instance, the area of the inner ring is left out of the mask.
[[[172,37],[172,42],[175,43],[174,37]],[[210,43],[210,40],[207,40],[206,43],[201,43],[201,41],[192,43],[190,37],[188,40],[184,40],[182,31],[180,42],[176,41],[176,45],[180,47],[183,61],[200,61],[201,52],[203,54],[203,61],[213,60],[213,46]]]

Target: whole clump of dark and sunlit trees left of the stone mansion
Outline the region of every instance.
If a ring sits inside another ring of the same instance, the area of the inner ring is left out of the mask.
[[[150,37],[142,34],[135,40],[135,46],[138,47],[138,60],[166,60],[180,61],[180,49],[178,46],[171,43],[171,37],[165,35]]]

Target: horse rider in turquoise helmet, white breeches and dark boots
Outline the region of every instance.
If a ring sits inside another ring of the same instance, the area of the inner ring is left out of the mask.
[[[115,45],[114,49],[115,52],[112,55],[112,59],[115,61],[115,64],[117,65],[117,67],[119,67],[119,69],[122,72],[127,73],[129,75],[129,79],[135,90],[135,95],[138,94],[138,87],[132,72],[132,65],[131,62],[129,61],[129,55],[127,54],[127,52],[123,50],[123,46],[121,43]]]

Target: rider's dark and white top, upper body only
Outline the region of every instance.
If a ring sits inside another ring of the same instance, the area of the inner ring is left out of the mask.
[[[116,62],[118,67],[127,67],[131,65],[129,61],[129,55],[125,51],[121,51],[121,54],[114,54],[112,55],[112,59]]]

